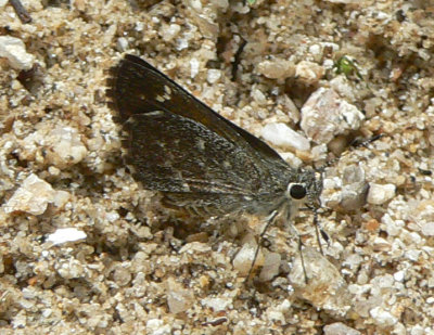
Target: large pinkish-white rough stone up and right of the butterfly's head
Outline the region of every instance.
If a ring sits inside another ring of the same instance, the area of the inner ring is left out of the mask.
[[[363,119],[363,114],[334,90],[320,88],[302,107],[301,127],[309,139],[320,144],[359,129]]]

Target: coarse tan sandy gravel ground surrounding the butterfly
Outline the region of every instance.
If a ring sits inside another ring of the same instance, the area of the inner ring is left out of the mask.
[[[434,334],[434,2],[23,5],[28,24],[0,2],[0,37],[15,38],[0,41],[2,334]],[[255,241],[232,228],[260,218],[176,216],[132,179],[105,96],[124,53],[255,136],[284,124],[312,140],[271,144],[293,165],[337,157],[324,257],[311,212],[293,222],[307,283],[288,224],[245,283]],[[329,104],[303,126],[315,93]],[[53,245],[62,228],[77,241]]]

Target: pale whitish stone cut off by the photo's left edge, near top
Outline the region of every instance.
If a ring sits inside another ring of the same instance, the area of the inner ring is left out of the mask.
[[[30,69],[35,56],[26,52],[24,42],[15,37],[0,36],[0,57],[5,57],[15,69]]]

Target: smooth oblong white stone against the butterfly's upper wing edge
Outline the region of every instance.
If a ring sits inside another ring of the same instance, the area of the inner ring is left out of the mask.
[[[263,128],[261,137],[276,146],[308,151],[309,140],[292,130],[285,124],[268,124]]]

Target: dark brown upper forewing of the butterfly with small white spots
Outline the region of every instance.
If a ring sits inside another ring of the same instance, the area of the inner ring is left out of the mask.
[[[269,145],[215,113],[140,57],[126,55],[111,72],[107,95],[120,124],[138,114],[170,112],[202,124],[227,141],[248,151],[252,157],[263,160],[264,168],[288,168]]]

